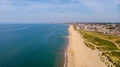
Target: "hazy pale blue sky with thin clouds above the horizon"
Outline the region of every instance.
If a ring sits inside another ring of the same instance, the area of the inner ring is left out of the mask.
[[[120,21],[120,0],[0,0],[0,22]]]

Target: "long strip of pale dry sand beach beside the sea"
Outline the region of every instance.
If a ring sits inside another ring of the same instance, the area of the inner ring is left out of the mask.
[[[84,39],[69,26],[69,45],[66,51],[67,67],[107,67],[98,57],[99,51],[91,50],[84,44]]]

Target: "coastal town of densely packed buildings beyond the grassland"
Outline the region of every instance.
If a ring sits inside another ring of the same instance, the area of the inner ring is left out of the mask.
[[[117,23],[79,23],[77,29],[85,31],[95,31],[107,35],[120,36],[120,24]]]

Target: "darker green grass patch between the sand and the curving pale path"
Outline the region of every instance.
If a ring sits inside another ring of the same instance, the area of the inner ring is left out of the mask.
[[[83,34],[83,37],[87,42],[90,42],[97,46],[97,49],[102,50],[102,51],[112,51],[112,50],[119,50],[116,45],[110,41],[101,39],[99,37],[96,37],[94,35],[91,35],[87,32],[81,31]]]

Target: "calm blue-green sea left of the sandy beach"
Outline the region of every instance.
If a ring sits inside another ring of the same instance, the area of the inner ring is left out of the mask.
[[[0,24],[0,67],[64,67],[68,25]]]

